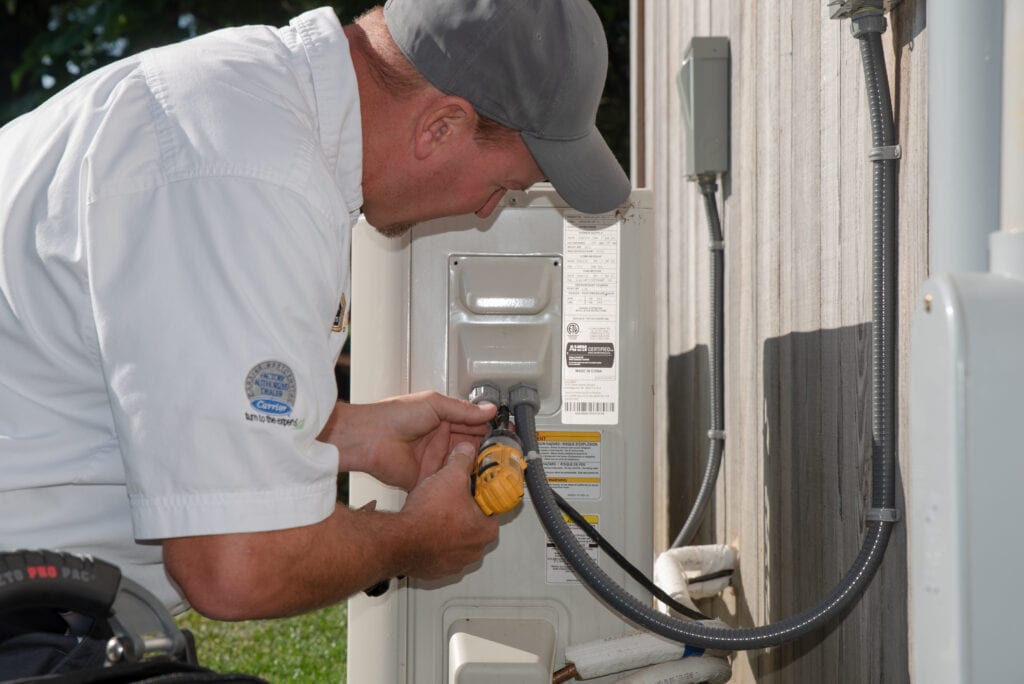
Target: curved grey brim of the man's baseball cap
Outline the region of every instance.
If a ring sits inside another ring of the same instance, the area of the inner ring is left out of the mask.
[[[629,198],[629,176],[597,127],[575,140],[546,140],[526,131],[522,139],[541,171],[573,209],[602,214]]]

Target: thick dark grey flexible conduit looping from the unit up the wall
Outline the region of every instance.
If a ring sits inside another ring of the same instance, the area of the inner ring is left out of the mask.
[[[884,16],[855,17],[854,36],[861,59],[871,117],[871,142],[877,149],[893,144],[892,103],[881,34]],[[867,588],[882,563],[895,524],[895,393],[896,234],[895,160],[872,155],[872,291],[871,300],[871,510],[861,550],[846,576],[820,603],[773,625],[720,629],[665,615],[623,590],[580,547],[562,519],[548,486],[537,444],[537,404],[515,408],[516,431],[527,452],[526,484],[538,516],[552,542],[577,574],[611,608],[638,626],[673,641],[699,648],[749,650],[777,646],[797,639],[842,615]]]

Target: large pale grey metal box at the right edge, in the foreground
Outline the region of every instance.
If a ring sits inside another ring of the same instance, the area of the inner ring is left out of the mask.
[[[906,516],[919,682],[1021,681],[1007,657],[1018,636],[1007,587],[1024,573],[1022,337],[1024,280],[943,273],[925,284],[910,337]]]

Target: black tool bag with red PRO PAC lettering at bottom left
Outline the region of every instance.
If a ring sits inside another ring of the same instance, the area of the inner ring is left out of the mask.
[[[266,682],[199,666],[191,635],[98,558],[0,553],[0,681]]]

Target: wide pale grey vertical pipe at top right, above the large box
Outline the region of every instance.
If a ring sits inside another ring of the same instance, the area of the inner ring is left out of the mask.
[[[1002,0],[928,2],[932,275],[988,270],[999,226],[1002,10]]]

